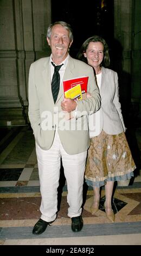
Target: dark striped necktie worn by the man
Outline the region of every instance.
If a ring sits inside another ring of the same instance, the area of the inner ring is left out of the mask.
[[[54,99],[54,103],[55,103],[57,100],[57,96],[59,94],[59,88],[60,88],[59,70],[63,64],[55,66],[54,63],[52,62],[52,65],[54,66],[54,74],[53,74],[53,78],[52,78],[52,94],[53,94],[53,99]]]

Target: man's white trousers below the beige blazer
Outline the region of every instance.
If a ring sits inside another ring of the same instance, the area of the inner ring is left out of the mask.
[[[49,150],[41,149],[36,143],[36,155],[42,197],[40,206],[42,220],[50,222],[56,218],[61,157],[67,180],[68,216],[70,218],[80,216],[87,151],[75,155],[67,154],[56,131],[53,145]]]

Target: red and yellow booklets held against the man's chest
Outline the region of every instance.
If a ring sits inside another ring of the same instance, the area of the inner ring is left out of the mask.
[[[73,100],[86,99],[88,76],[81,76],[63,81],[63,91],[66,98]]]

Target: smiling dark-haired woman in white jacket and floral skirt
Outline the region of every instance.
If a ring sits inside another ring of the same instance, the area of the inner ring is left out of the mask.
[[[94,69],[101,95],[101,108],[89,115],[89,136],[85,179],[93,187],[92,215],[99,210],[100,187],[105,185],[105,212],[114,222],[112,192],[114,181],[130,181],[136,168],[125,137],[125,125],[119,102],[118,75],[111,69],[108,46],[103,38],[94,35],[81,46],[78,59]],[[105,67],[104,67],[105,66]],[[87,97],[91,95],[87,94]]]

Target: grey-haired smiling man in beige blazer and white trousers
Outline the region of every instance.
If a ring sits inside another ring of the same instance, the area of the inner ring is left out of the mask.
[[[100,108],[93,69],[68,54],[73,42],[70,26],[62,21],[53,23],[48,27],[47,41],[51,56],[31,64],[29,71],[29,119],[35,136],[42,197],[41,218],[33,228],[35,235],[42,234],[56,219],[60,157],[67,180],[68,216],[72,219],[72,230],[82,229],[82,188],[89,147],[87,115],[89,111]],[[54,78],[55,66],[57,76],[59,74],[59,92]],[[64,99],[62,81],[85,75],[92,96],[77,102]],[[67,120],[66,113],[72,111],[74,118]]]

